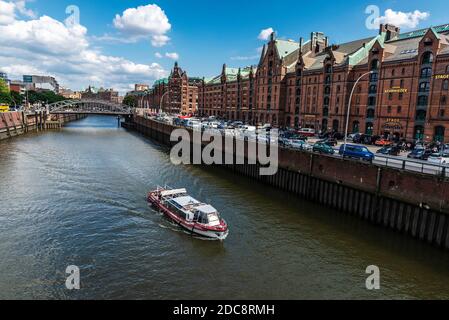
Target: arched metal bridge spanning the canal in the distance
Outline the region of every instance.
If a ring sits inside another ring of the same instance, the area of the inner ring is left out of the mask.
[[[124,104],[104,100],[64,100],[48,105],[50,114],[95,114],[127,116],[131,108]]]

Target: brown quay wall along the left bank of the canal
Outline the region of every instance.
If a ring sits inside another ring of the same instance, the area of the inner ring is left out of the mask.
[[[81,114],[59,114],[47,116],[46,112],[0,113],[0,140],[32,131],[60,129],[65,123],[85,118]]]

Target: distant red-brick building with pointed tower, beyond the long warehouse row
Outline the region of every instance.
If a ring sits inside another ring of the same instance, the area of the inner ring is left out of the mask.
[[[150,90],[137,94],[139,108],[190,115],[198,111],[198,87],[202,79],[189,78],[176,62],[168,78],[156,81]]]

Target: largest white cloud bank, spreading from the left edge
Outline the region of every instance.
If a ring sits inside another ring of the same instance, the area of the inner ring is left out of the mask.
[[[15,16],[18,10],[14,9]],[[126,91],[130,84],[168,75],[158,63],[135,63],[92,48],[84,26],[66,26],[48,16],[9,21],[0,25],[0,66],[11,79],[21,79],[23,74],[48,74],[75,90],[92,83]]]

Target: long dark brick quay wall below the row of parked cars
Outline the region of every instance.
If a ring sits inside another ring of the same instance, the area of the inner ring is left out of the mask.
[[[170,142],[176,128],[172,125],[135,116],[123,126],[167,146],[175,144]],[[284,148],[279,149],[279,170],[274,176],[260,176],[260,166],[247,161],[224,166],[341,213],[449,249],[447,178]]]

